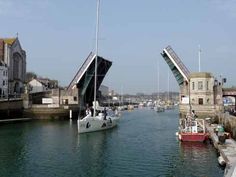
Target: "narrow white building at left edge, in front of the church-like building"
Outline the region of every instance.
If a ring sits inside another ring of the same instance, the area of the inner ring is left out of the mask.
[[[8,71],[7,65],[0,60],[0,99],[8,96]]]

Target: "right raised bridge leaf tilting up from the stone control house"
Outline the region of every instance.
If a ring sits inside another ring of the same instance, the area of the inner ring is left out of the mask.
[[[184,81],[189,81],[190,73],[188,69],[170,46],[166,47],[161,55],[172,71],[179,86],[183,85]]]

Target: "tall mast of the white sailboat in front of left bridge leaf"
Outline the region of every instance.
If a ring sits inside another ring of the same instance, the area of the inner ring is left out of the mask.
[[[97,60],[98,60],[98,33],[99,33],[99,9],[100,9],[100,0],[97,0],[97,20],[96,20],[96,58],[95,58],[95,74],[94,74],[94,112],[93,117],[96,116],[96,97],[97,97]]]

